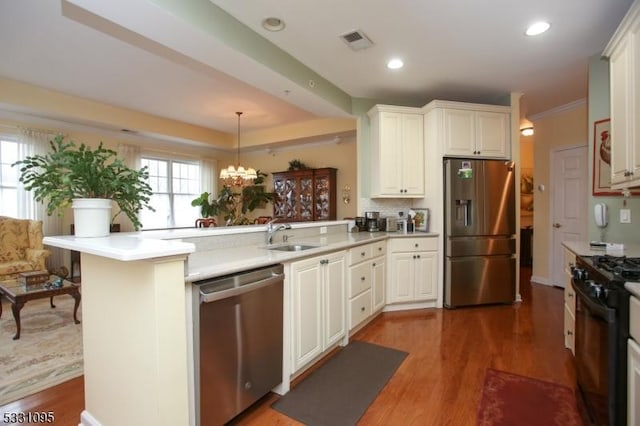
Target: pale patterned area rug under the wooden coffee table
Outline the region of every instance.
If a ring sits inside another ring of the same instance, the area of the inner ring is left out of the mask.
[[[20,339],[11,304],[3,298],[0,318],[0,405],[21,399],[83,374],[82,324],[73,322],[68,295],[32,300],[20,311]],[[82,321],[82,307],[78,320]]]

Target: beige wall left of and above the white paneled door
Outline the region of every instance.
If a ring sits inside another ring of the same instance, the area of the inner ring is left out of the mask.
[[[553,149],[563,146],[587,145],[587,104],[577,103],[573,108],[545,114],[532,120],[535,125],[535,144],[533,162],[535,164],[533,181],[535,206],[533,216],[533,279],[548,282],[549,252],[551,250],[550,217],[550,157]],[[543,184],[545,190],[539,190]],[[589,191],[589,188],[585,188]]]

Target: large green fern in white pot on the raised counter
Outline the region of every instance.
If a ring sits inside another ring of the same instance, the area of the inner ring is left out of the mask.
[[[117,158],[114,150],[102,142],[92,150],[84,143],[64,140],[58,135],[49,142],[51,151],[18,161],[20,182],[33,191],[36,201],[46,202],[47,213],[71,206],[77,237],[109,235],[110,224],[124,213],[136,230],[142,227],[138,213],[149,204],[152,195],[146,167],[134,170]],[[112,201],[118,206],[111,215]]]

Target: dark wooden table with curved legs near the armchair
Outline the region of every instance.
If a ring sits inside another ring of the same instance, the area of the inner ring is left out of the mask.
[[[49,279],[57,278],[52,275]],[[73,321],[76,324],[80,324],[78,321],[78,307],[80,306],[80,287],[71,281],[62,280],[62,287],[58,288],[46,288],[44,283],[33,290],[27,290],[23,284],[18,280],[0,281],[0,317],[2,316],[2,297],[6,297],[11,302],[11,311],[13,312],[13,319],[16,321],[16,335],[13,336],[13,340],[20,338],[20,310],[29,300],[49,298],[49,304],[52,308],[56,306],[53,304],[53,296],[60,294],[69,294],[75,299],[75,305],[73,307]]]

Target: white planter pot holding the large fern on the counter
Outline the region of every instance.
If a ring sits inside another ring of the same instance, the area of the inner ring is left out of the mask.
[[[76,237],[106,237],[111,224],[111,200],[77,198],[71,204]]]

